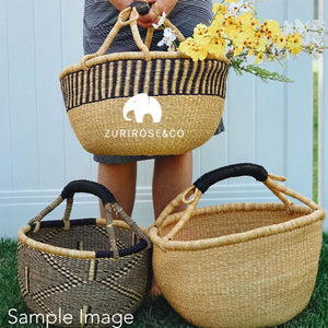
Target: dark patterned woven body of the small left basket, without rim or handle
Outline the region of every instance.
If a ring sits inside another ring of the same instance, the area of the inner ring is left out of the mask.
[[[119,249],[139,243],[130,230],[116,227]],[[45,227],[27,233],[30,238],[57,247],[79,250],[108,249],[102,225]],[[19,281],[27,306],[37,314],[73,316],[70,327],[81,327],[85,314],[127,314],[139,307],[149,284],[150,249],[112,258],[72,258],[19,244]],[[82,321],[81,321],[82,314]],[[97,325],[92,325],[97,326]],[[102,325],[99,325],[102,326]],[[107,325],[108,326],[108,325]]]

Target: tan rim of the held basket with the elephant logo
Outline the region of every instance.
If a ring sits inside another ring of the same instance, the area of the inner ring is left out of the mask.
[[[150,51],[151,60],[152,59],[191,59],[189,56],[184,55],[179,51]],[[144,59],[144,55],[141,51],[125,51],[125,52],[115,52],[115,54],[106,54],[103,56],[97,56],[92,59],[89,59],[89,68],[92,68],[96,65],[101,65],[107,61],[118,61],[118,60],[132,60],[132,59]],[[208,55],[206,60],[218,60],[222,61],[226,65],[230,63],[230,59],[225,56],[215,57],[214,55]],[[85,67],[81,63],[73,63],[65,68],[60,74],[59,80],[62,80],[66,75],[75,73],[78,71],[85,70]]]

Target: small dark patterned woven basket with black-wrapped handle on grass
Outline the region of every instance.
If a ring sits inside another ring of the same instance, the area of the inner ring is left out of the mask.
[[[70,221],[74,192],[98,196],[106,220]],[[40,222],[65,199],[62,221]],[[113,224],[112,209],[125,222]],[[108,318],[134,313],[148,291],[151,243],[110,191],[77,180],[19,231],[17,263],[21,292],[34,313],[54,314],[51,323],[60,327],[65,314],[72,316],[70,327],[109,327]]]

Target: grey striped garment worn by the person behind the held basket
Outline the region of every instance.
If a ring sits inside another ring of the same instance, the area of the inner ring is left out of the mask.
[[[119,12],[108,0],[85,0],[84,3],[84,24],[83,24],[83,46],[84,54],[93,54],[98,50],[104,39],[117,21]],[[179,0],[174,10],[168,15],[171,22],[183,33],[185,37],[191,36],[194,27],[198,23],[208,24],[212,19],[212,1],[210,0]],[[147,30],[139,28],[141,37],[144,39]],[[151,50],[166,51],[166,47],[159,47],[157,43],[163,37],[163,31],[155,31]],[[121,51],[139,51],[131,35],[129,26],[124,26],[113,44],[108,54]],[[221,119],[214,134],[224,131]],[[150,159],[165,157],[157,156],[109,156],[94,155],[94,160],[105,164],[120,164]]]

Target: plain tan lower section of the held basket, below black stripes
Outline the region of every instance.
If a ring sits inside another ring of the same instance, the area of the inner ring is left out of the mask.
[[[125,121],[122,112],[116,108],[124,108],[126,98],[83,105],[69,110],[68,116],[83,148],[95,154],[157,155],[165,154],[164,150],[167,154],[181,154],[213,136],[223,112],[221,98],[192,95],[157,98],[164,104],[159,124],[149,116],[141,125],[134,117]]]

